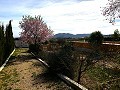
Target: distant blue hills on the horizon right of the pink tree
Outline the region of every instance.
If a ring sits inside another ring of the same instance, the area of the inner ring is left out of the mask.
[[[54,35],[54,38],[82,38],[88,37],[90,34],[70,34],[70,33],[58,33]]]

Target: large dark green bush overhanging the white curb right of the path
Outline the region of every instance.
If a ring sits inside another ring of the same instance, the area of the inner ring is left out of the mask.
[[[39,55],[41,59],[45,60],[50,65],[50,69],[54,72],[62,73],[73,78],[73,51],[74,49],[70,43],[64,43],[58,51],[41,51],[39,52]]]

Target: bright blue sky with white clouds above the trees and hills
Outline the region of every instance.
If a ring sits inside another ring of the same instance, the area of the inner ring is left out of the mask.
[[[57,33],[87,34],[101,31],[113,34],[120,28],[105,20],[101,14],[107,0],[0,0],[0,22],[12,21],[13,36],[19,37],[19,22],[23,15],[41,15],[44,22]]]

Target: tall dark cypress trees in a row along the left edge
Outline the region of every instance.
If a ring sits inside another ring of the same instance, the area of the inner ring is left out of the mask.
[[[12,33],[11,21],[6,27],[6,32],[4,33],[4,26],[0,26],[0,66],[5,62],[9,54],[14,49],[14,38]]]

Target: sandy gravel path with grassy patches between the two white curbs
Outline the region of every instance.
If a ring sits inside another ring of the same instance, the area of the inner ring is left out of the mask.
[[[29,53],[13,57],[0,72],[0,90],[71,90]]]

